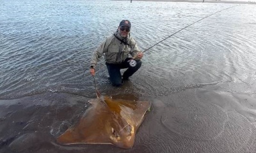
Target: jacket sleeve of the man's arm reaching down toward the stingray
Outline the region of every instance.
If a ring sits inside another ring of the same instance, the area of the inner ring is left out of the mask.
[[[97,49],[93,52],[92,54],[92,59],[91,59],[91,65],[95,67],[97,65],[97,62],[99,60],[100,57],[102,57],[102,55],[104,54],[104,52],[106,52],[106,40],[104,40],[99,47],[97,47]]]

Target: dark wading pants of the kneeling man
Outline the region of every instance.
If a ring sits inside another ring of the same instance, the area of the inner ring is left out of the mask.
[[[128,80],[129,77],[131,77],[140,67],[141,67],[141,61],[136,61],[136,66],[132,67],[129,64],[129,59],[125,59],[124,62],[121,62],[120,64],[109,64],[106,63],[106,66],[108,68],[109,78],[113,85],[120,86],[122,85],[122,75],[120,72],[120,69],[128,68],[123,74],[124,80]]]

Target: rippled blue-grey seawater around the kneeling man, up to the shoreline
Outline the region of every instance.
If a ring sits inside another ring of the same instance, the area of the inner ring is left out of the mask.
[[[233,8],[230,8],[234,6]],[[122,90],[112,87],[103,57],[100,92],[167,96],[204,85],[256,92],[256,5],[154,1],[29,1],[0,3],[0,99],[43,92],[94,95],[93,50],[123,19],[141,51],[141,69]],[[230,8],[225,10],[225,8]]]

